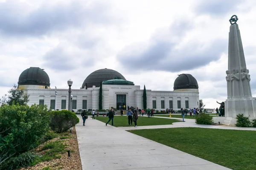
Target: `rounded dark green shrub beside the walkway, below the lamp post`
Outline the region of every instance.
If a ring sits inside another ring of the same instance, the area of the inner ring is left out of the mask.
[[[56,133],[65,132],[77,123],[79,123],[79,118],[71,111],[52,111],[50,114],[50,127]]]

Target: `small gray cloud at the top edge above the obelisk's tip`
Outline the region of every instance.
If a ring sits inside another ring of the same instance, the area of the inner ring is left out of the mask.
[[[201,0],[195,8],[196,13],[223,15],[235,11],[242,0]],[[231,17],[231,16],[230,16]]]

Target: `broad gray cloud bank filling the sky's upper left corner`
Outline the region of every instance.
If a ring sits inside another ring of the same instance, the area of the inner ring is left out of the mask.
[[[0,3],[0,34],[12,36],[38,36],[53,30],[80,27],[89,23],[108,23],[107,4],[92,3],[84,6],[78,1],[55,6],[40,6],[28,14],[23,11],[30,7],[25,3],[7,1]],[[18,12],[17,12],[18,11]]]

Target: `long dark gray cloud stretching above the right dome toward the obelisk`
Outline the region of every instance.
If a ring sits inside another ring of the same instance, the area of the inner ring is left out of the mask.
[[[154,39],[150,42],[151,45],[144,50],[141,46],[145,45],[125,48],[118,55],[119,62],[123,65],[132,62],[133,66],[141,70],[148,70],[150,67],[170,72],[188,71],[219,59],[221,53],[227,51],[226,40],[221,39],[209,42],[206,46],[196,41],[190,42],[181,49],[175,48],[178,42]],[[142,65],[147,67],[141,67]]]

